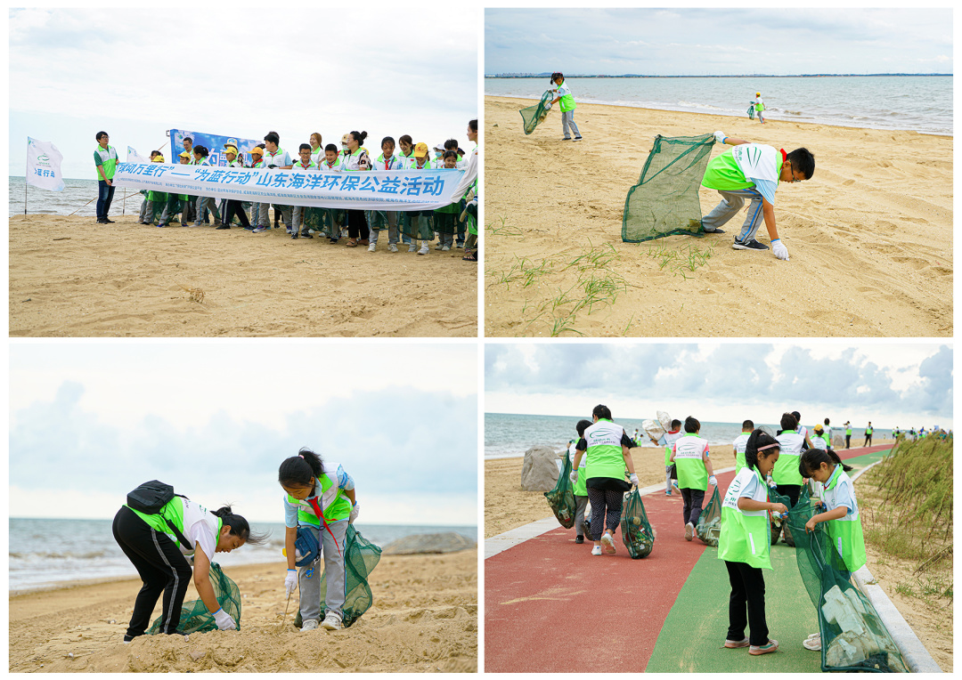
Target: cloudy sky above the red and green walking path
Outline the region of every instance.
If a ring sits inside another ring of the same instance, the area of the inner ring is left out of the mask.
[[[597,403],[616,420],[663,410],[777,422],[799,411],[883,429],[949,429],[952,350],[864,341],[488,344],[485,412],[576,417]]]

